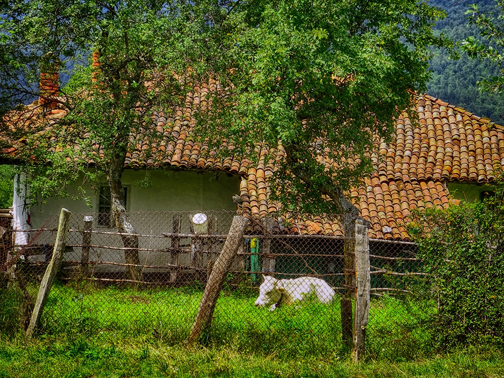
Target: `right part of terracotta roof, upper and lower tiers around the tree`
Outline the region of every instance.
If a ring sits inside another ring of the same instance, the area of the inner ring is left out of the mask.
[[[428,95],[416,100],[418,120],[406,112],[396,120],[391,143],[380,144],[375,172],[349,194],[371,223],[373,238],[409,239],[405,223],[411,209],[448,206],[445,180],[492,181],[504,165],[504,128]],[[277,210],[263,188],[273,169],[249,168],[242,179],[242,210],[253,220]],[[293,233],[343,236],[337,220],[291,223]]]

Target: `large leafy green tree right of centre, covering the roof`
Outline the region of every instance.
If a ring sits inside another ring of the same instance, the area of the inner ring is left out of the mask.
[[[200,112],[200,134],[251,158],[281,146],[275,197],[293,213],[340,214],[353,235],[358,210],[345,192],[425,89],[428,47],[448,44],[432,31],[444,12],[409,0],[250,0],[233,11],[208,70],[224,89]]]

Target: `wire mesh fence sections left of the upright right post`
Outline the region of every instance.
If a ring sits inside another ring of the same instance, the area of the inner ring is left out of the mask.
[[[147,333],[171,342],[185,340],[233,215],[131,214],[141,268],[141,279],[134,280],[129,277],[121,235],[95,224],[90,214],[73,214],[41,332]],[[29,282],[33,296],[51,258],[56,225],[57,219],[48,219],[41,230],[17,237],[27,243],[15,248],[16,272]],[[340,346],[337,296],[344,289],[342,246],[343,240],[335,237],[245,235],[226,272],[210,332],[203,337],[208,342],[232,341],[243,348],[255,344],[258,349],[278,347],[286,339],[298,349]],[[263,287],[259,300],[265,276],[273,284]],[[300,277],[310,279],[296,282]],[[311,292],[305,292],[305,286]],[[285,306],[275,296],[284,295],[283,291],[291,292],[285,294]],[[289,306],[289,300],[297,299],[294,294],[306,301]]]

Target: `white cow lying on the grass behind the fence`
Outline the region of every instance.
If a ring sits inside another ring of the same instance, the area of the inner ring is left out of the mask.
[[[300,277],[292,280],[277,280],[263,275],[264,282],[259,287],[259,297],[254,303],[258,307],[270,307],[270,311],[281,304],[290,305],[305,302],[313,295],[323,304],[330,304],[335,295],[329,284],[314,277]]]

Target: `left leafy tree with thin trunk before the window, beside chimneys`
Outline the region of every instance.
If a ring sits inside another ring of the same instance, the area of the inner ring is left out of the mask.
[[[0,5],[0,104],[5,110],[16,101],[41,98],[35,109],[18,106],[3,118],[6,138],[26,135],[26,125],[32,134],[21,157],[31,202],[68,196],[68,184],[82,177],[91,182],[104,177],[115,225],[124,233],[130,276],[139,279],[138,237],[131,235],[136,231],[121,186],[125,157],[137,142],[130,137],[155,144],[152,113],[162,108],[170,116],[183,103],[185,92],[175,78],[188,64],[197,67],[211,7],[154,0],[11,0]],[[61,96],[39,91],[40,72],[58,71]],[[63,112],[54,111],[55,106]]]

